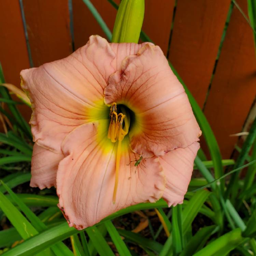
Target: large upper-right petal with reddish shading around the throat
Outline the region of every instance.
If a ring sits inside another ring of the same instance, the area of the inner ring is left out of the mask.
[[[106,104],[125,104],[135,113],[131,148],[144,157],[185,148],[201,135],[184,88],[158,46],[145,44],[127,57],[104,95]]]

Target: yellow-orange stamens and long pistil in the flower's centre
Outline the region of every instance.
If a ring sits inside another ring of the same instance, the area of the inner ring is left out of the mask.
[[[108,138],[115,143],[118,140],[117,153],[116,153],[116,172],[115,172],[115,185],[113,191],[113,203],[116,201],[116,191],[118,186],[118,177],[120,169],[120,158],[122,150],[122,141],[128,133],[130,126],[130,117],[125,109],[121,107],[121,113],[117,114],[116,103],[112,103],[110,108],[110,125],[108,131]]]

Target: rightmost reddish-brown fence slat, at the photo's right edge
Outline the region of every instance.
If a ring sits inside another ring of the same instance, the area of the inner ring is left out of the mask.
[[[247,1],[237,0],[247,13]],[[230,157],[256,95],[256,59],[253,31],[234,6],[219,56],[205,115],[224,158]]]

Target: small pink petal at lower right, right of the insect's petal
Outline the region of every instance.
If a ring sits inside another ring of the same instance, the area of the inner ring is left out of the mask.
[[[163,198],[167,201],[169,207],[183,202],[199,147],[199,143],[194,142],[186,148],[176,148],[159,157],[166,176]]]

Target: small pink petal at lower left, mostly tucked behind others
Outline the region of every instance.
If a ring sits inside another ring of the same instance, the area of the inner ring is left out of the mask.
[[[64,158],[63,154],[56,154],[43,147],[33,146],[31,162],[31,187],[50,188],[56,186],[56,174],[59,162]]]

